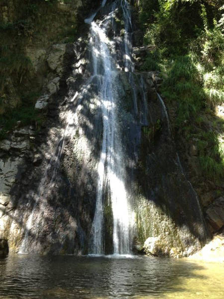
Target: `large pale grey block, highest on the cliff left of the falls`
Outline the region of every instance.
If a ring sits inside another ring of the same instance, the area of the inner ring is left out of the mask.
[[[51,52],[48,54],[47,63],[52,71],[58,75],[63,72],[63,58],[66,50],[66,44],[55,44],[52,46]]]

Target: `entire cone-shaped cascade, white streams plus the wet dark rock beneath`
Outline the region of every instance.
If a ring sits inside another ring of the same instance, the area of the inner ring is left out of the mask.
[[[20,253],[130,255],[160,235],[166,253],[174,246],[185,256],[190,251],[183,248],[204,240],[197,194],[178,162],[165,104],[151,72],[134,68],[130,11],[126,0],[103,0],[85,20],[89,38],[74,43],[67,105],[59,99],[37,172],[43,175],[36,194],[29,193],[32,210],[22,210],[28,217]]]

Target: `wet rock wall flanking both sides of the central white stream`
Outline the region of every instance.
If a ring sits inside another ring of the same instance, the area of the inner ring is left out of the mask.
[[[109,1],[99,17],[110,7]],[[119,9],[116,13],[118,18]],[[120,20],[118,41],[121,25]],[[118,87],[116,121],[125,156],[124,184],[131,198],[133,243],[144,245],[148,254],[187,256],[201,248],[207,235],[197,195],[183,173],[156,94],[161,79],[155,72],[125,72],[123,48],[116,45],[121,65],[113,82]],[[29,128],[16,130],[0,144],[0,239],[7,240],[10,251],[87,254],[104,132],[101,81],[91,77],[88,37],[66,47],[55,44],[50,51],[35,56],[47,57],[50,69],[46,96],[35,107],[47,115],[44,130],[37,136]],[[106,254],[113,252],[109,191],[105,187]]]

